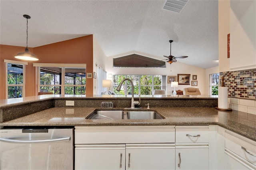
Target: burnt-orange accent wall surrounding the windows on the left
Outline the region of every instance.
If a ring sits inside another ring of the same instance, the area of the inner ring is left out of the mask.
[[[19,60],[14,56],[24,50],[25,47],[0,45],[0,99],[5,99],[4,59]],[[86,63],[86,72],[93,73],[92,35],[30,48],[30,52],[39,60],[28,61],[26,66],[26,96],[37,95],[34,94],[36,80],[33,63]],[[86,80],[86,95],[93,95],[93,79]]]

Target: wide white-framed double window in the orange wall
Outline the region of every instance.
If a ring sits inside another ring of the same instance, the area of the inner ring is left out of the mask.
[[[38,91],[65,95],[86,94],[86,64],[34,63],[34,66],[38,65]]]

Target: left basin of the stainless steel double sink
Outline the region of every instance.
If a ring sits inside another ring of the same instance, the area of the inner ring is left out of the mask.
[[[95,111],[86,119],[124,119],[124,111]]]

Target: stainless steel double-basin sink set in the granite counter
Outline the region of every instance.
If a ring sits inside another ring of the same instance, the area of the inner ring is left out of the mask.
[[[155,111],[95,110],[86,119],[165,119]]]

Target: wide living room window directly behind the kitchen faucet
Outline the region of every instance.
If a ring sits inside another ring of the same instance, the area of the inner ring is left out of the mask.
[[[134,85],[135,95],[152,95],[154,89],[164,89],[165,78],[164,75],[114,75],[114,92],[117,94],[132,94],[132,85],[130,81],[125,81],[120,92],[116,88],[121,83],[122,79],[129,78]]]

